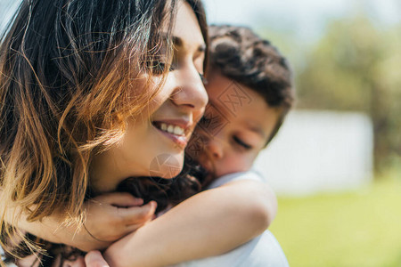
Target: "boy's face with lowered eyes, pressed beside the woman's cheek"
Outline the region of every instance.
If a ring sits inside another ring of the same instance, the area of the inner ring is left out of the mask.
[[[209,104],[197,127],[202,148],[196,157],[215,177],[248,171],[272,134],[280,110],[218,73],[208,80]]]

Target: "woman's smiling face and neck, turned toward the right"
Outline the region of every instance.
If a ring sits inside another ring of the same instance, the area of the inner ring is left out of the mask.
[[[94,155],[91,183],[99,192],[115,190],[130,176],[172,178],[183,167],[184,148],[208,102],[201,81],[206,45],[184,1],[178,2],[174,25],[174,64],[166,82],[141,117],[127,120],[122,139]],[[160,77],[152,80],[157,84]]]

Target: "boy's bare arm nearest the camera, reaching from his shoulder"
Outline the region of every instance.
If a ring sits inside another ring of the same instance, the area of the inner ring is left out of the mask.
[[[104,257],[113,267],[147,267],[220,255],[265,231],[276,208],[265,183],[228,182],[186,199],[111,245]]]

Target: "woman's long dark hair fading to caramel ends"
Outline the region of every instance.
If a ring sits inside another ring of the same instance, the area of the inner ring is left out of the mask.
[[[168,72],[159,59],[173,55],[177,1],[22,1],[0,44],[4,206],[18,206],[29,221],[63,209],[66,220],[83,222],[92,155],[118,142],[126,118],[158,93],[160,86],[143,88],[137,77]],[[186,2],[207,42],[201,2]],[[23,236],[4,212],[0,245],[8,250],[18,244],[7,238]]]

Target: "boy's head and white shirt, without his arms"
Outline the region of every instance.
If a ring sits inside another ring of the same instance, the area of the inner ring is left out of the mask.
[[[209,35],[209,105],[195,133],[198,143],[203,143],[203,152],[194,158],[213,174],[209,188],[241,180],[264,182],[250,167],[292,106],[291,71],[274,47],[249,28],[210,27]],[[273,235],[265,231],[225,255],[177,266],[266,267],[288,263]]]

